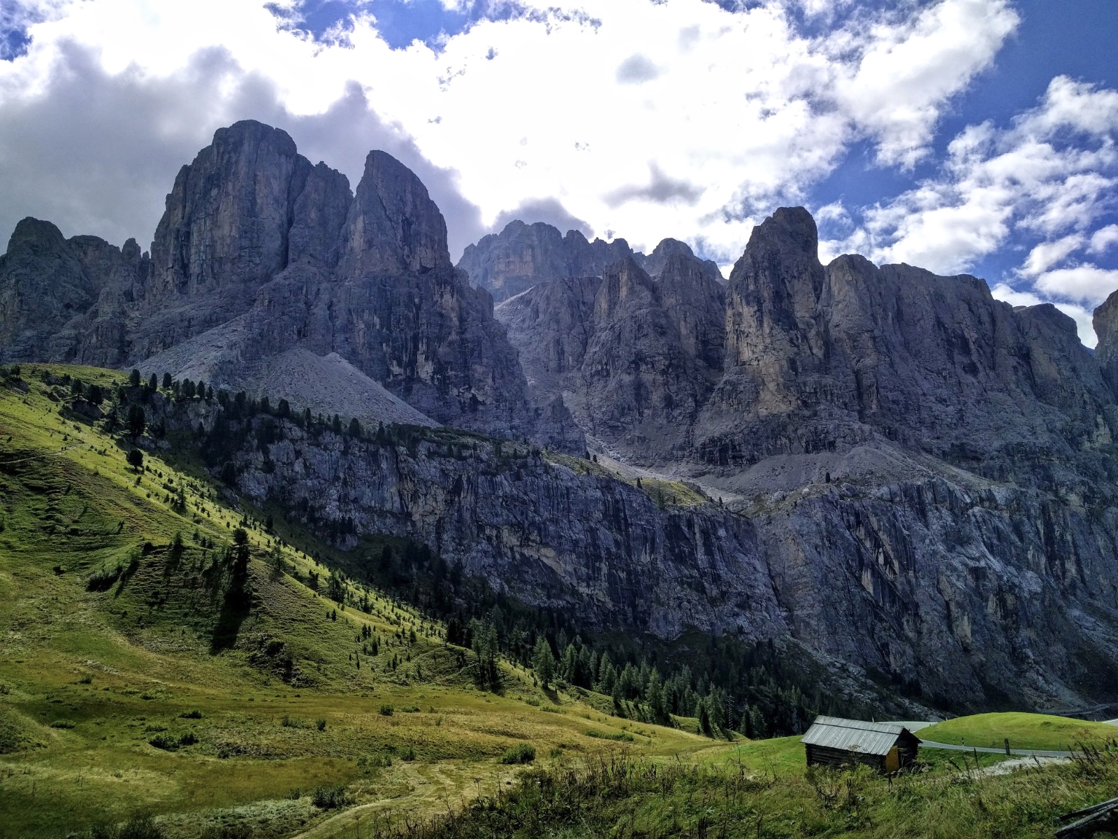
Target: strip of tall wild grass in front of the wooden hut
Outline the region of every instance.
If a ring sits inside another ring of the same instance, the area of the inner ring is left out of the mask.
[[[717,767],[599,754],[530,769],[508,790],[454,814],[378,824],[394,839],[485,837],[1051,837],[1062,813],[1107,799],[1118,752],[1091,748],[1069,764],[986,776],[969,766],[918,766],[894,777],[866,767],[812,767],[797,776],[742,764]]]

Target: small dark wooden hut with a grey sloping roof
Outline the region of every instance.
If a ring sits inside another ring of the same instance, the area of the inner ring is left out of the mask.
[[[802,743],[807,765],[853,766],[896,772],[916,760],[920,739],[900,723],[816,717]]]

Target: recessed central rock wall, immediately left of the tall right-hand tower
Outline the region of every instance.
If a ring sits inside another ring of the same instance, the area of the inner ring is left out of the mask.
[[[534,397],[562,395],[587,434],[637,462],[688,451],[721,369],[724,290],[690,249],[660,270],[627,258],[496,309]]]

